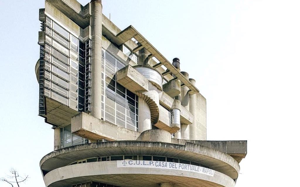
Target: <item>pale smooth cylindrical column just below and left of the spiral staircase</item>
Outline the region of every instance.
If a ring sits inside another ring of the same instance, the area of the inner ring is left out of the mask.
[[[142,133],[145,130],[152,129],[151,127],[151,113],[150,108],[146,101],[139,98],[139,132]]]

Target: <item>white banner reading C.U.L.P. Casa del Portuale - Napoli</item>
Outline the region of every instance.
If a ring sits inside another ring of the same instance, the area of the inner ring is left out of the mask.
[[[117,168],[164,168],[182,171],[191,171],[209,176],[214,176],[214,170],[197,165],[175,162],[148,161],[148,160],[117,160]]]

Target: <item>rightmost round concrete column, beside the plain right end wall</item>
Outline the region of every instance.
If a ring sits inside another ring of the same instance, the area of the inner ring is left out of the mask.
[[[190,82],[195,86],[196,80],[194,79],[189,79]],[[194,121],[192,124],[190,124],[190,140],[197,140],[197,122],[195,119],[196,115],[196,94],[190,95],[189,96],[190,101],[189,101],[189,107],[190,107],[190,113],[194,115]]]

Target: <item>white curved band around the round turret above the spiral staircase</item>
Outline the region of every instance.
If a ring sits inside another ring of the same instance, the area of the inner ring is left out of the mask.
[[[163,77],[156,69],[141,65],[133,66],[133,68],[146,77],[159,90],[163,90]]]

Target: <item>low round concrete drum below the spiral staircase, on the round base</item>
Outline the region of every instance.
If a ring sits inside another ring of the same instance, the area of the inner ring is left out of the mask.
[[[171,134],[166,130],[150,129],[144,131],[138,138],[138,141],[149,142],[167,142],[171,143]]]

